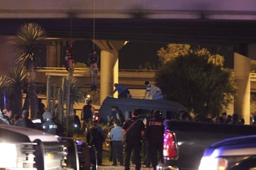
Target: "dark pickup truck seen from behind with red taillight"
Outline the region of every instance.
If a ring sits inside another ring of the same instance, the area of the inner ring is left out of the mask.
[[[156,169],[198,169],[205,148],[230,137],[256,134],[256,127],[241,124],[164,121],[163,164]]]

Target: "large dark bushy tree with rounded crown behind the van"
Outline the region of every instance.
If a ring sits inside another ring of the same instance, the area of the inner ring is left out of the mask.
[[[166,99],[181,103],[190,112],[217,116],[232,101],[236,89],[231,71],[209,62],[208,56],[197,51],[169,60],[156,73],[156,84]]]

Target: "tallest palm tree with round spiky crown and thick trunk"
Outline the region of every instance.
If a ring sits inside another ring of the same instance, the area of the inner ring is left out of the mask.
[[[23,110],[28,110],[30,106],[31,116],[35,116],[38,110],[36,97],[35,69],[39,65],[40,58],[43,57],[45,49],[46,31],[37,23],[25,23],[17,31],[15,47],[17,51],[17,64],[25,67],[28,71],[27,95]]]

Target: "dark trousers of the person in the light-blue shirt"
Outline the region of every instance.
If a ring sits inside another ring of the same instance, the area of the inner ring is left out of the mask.
[[[113,164],[117,165],[117,160],[119,161],[120,165],[124,164],[124,158],[122,156],[122,140],[121,141],[112,141],[112,154],[113,154]]]

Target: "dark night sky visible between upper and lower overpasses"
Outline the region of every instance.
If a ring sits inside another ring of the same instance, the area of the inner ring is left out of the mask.
[[[145,63],[149,62],[151,66],[157,68],[158,57],[156,52],[161,47],[166,47],[168,44],[161,44],[159,42],[128,42],[126,46],[119,50],[119,69],[139,69],[140,66],[144,68]],[[201,46],[203,47],[203,46]],[[216,52],[215,46],[205,46],[211,53]],[[92,41],[77,41],[74,44],[75,62],[87,62],[87,57],[93,49]],[[100,49],[95,46],[98,55]],[[220,46],[218,54],[225,56],[224,66],[233,68],[234,57],[233,49],[230,46]],[[100,67],[100,64],[99,64]]]

